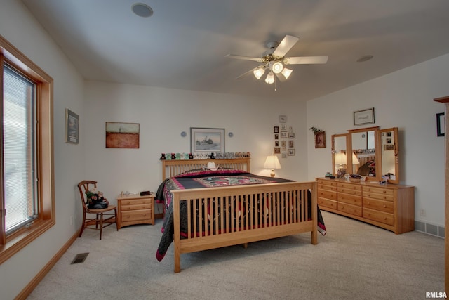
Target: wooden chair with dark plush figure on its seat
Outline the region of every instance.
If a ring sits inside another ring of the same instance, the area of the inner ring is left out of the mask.
[[[78,183],[79,193],[81,195],[81,202],[83,204],[83,226],[81,227],[81,231],[79,232],[79,236],[83,234],[85,228],[87,229],[100,229],[100,240],[102,237],[103,228],[112,225],[115,223],[117,226],[117,207],[115,205],[109,205],[105,209],[89,209],[84,196],[86,195],[86,191],[89,190],[89,185],[93,186],[93,188],[97,188],[97,181],[81,181]],[[111,213],[106,214],[111,211]],[[112,211],[114,211],[112,213]],[[95,214],[95,219],[88,219],[88,214]],[[106,216],[106,218],[104,218]],[[94,226],[90,227],[90,226]],[[119,231],[119,227],[117,226],[117,231]]]

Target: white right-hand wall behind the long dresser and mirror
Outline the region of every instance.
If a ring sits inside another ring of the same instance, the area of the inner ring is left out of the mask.
[[[307,127],[325,130],[329,145],[308,144],[309,179],[332,169],[331,135],[363,128],[354,126],[353,112],[375,107],[374,126],[398,127],[401,183],[416,186],[415,219],[444,226],[445,146],[436,136],[436,113],[444,106],[433,99],[449,95],[448,78],[449,54],[309,101]]]

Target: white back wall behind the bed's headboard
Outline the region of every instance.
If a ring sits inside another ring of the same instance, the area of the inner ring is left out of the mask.
[[[282,169],[276,174],[298,181],[307,178],[304,103],[99,81],[86,81],[85,89],[85,167],[112,202],[121,191],[157,190],[161,153],[190,152],[190,127],[224,128],[225,150],[250,152],[251,171],[268,175],[263,164],[273,152],[273,126],[279,125],[279,115],[287,115],[288,126],[293,126],[296,155],[280,158]],[[139,123],[140,148],[105,148],[105,122]],[[187,137],[180,135],[182,131]]]

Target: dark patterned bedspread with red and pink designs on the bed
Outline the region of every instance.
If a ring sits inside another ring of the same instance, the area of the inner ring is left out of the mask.
[[[173,242],[173,203],[172,190],[180,190],[187,188],[210,188],[222,187],[230,185],[247,185],[260,183],[282,183],[290,182],[290,180],[283,178],[272,178],[265,176],[257,176],[246,171],[236,169],[219,168],[217,171],[210,171],[209,169],[194,169],[177,176],[167,178],[156,192],[156,202],[163,203],[164,219],[162,226],[162,237],[159,242],[159,247],[156,252],[156,259],[161,261],[165,256],[168,247]],[[187,212],[187,205],[181,202],[180,211]],[[258,207],[257,209],[262,209]],[[326,234],[326,226],[324,226],[321,211],[318,209],[319,232]],[[180,215],[181,223],[181,238],[187,237],[187,213]],[[239,224],[237,224],[239,226]],[[220,228],[220,230],[227,230],[227,228]],[[191,233],[195,234],[195,233]],[[198,234],[198,233],[196,233]]]

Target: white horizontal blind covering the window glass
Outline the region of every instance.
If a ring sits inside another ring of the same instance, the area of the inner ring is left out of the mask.
[[[6,234],[38,216],[35,85],[4,65],[3,135]]]

